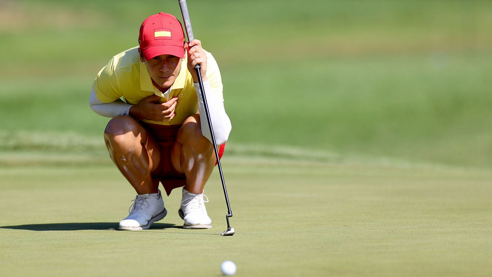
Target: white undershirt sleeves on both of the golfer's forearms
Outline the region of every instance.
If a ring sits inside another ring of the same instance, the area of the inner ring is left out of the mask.
[[[205,113],[205,106],[203,104],[202,94],[200,93],[200,85],[194,85],[196,95],[198,97],[198,109],[200,111],[200,125],[202,128],[202,135],[212,142],[212,136],[210,135],[210,129]],[[205,97],[207,98],[207,104],[210,111],[212,127],[214,128],[215,143],[216,145],[220,145],[227,141],[227,139],[229,138],[229,134],[232,129],[231,121],[225,113],[224,103],[212,92],[212,88],[210,87],[210,83],[208,80],[203,82],[203,87],[205,89]],[[128,115],[130,108],[133,106],[131,104],[124,103],[121,99],[117,99],[116,101],[111,103],[104,103],[97,98],[93,86],[91,89],[89,105],[95,113],[112,118],[120,115]]]

